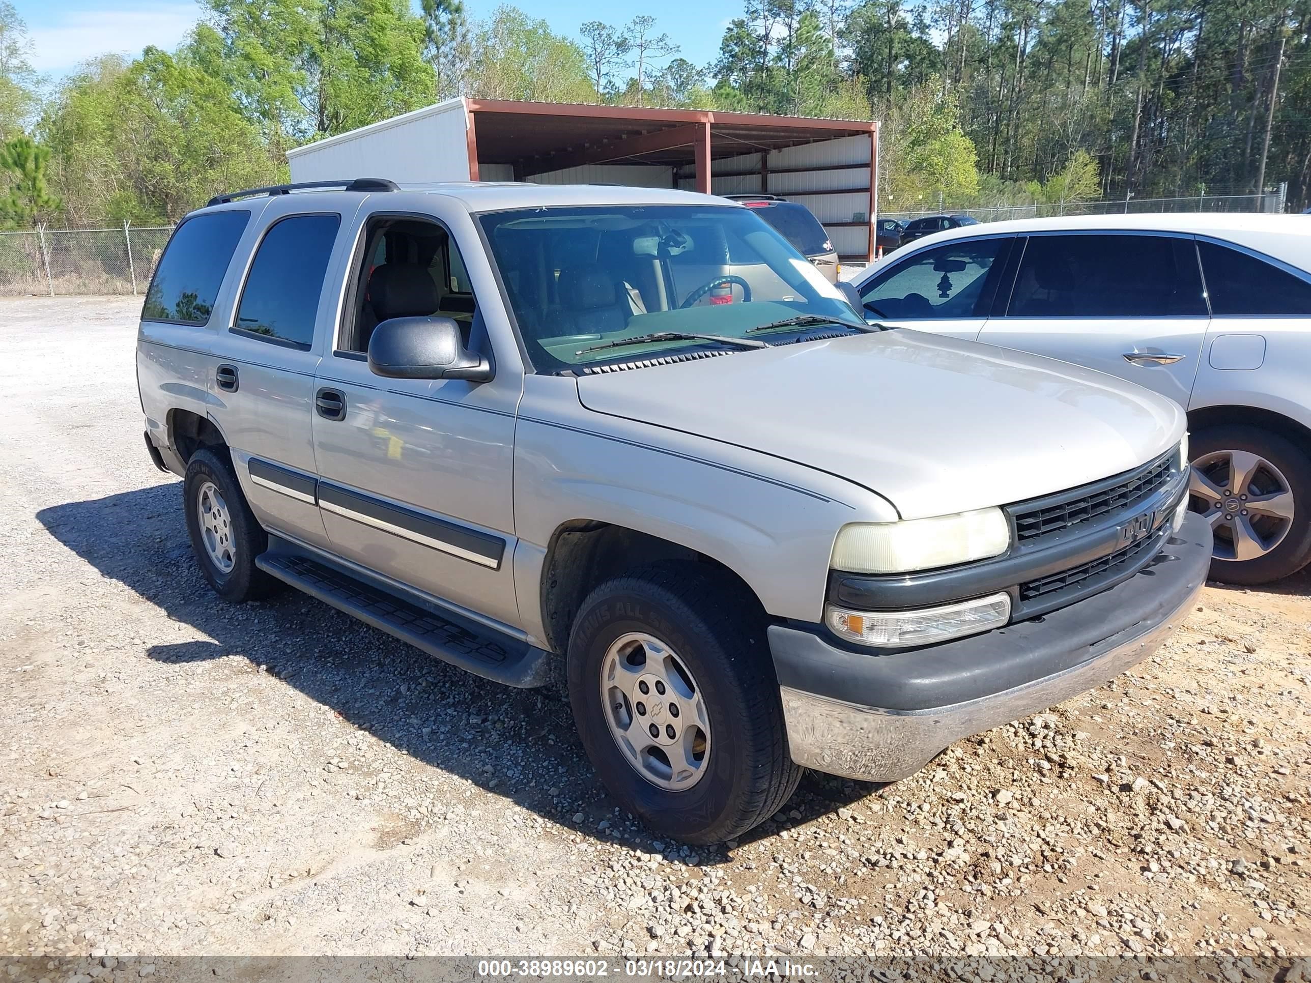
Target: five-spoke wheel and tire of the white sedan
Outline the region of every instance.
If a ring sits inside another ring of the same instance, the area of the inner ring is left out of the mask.
[[[1193,434],[1189,453],[1190,507],[1206,515],[1215,532],[1211,579],[1270,583],[1311,562],[1311,459],[1302,448],[1269,430],[1230,425]],[[1236,471],[1230,463],[1235,455],[1243,455],[1236,459],[1240,465],[1261,461],[1255,468],[1242,468],[1248,480],[1236,489],[1227,480]],[[1269,501],[1280,489],[1291,494],[1291,518],[1245,509],[1244,494]]]

